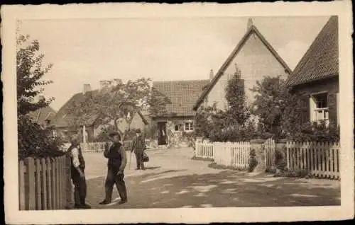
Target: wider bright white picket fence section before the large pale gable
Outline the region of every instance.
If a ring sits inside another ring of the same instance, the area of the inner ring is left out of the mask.
[[[245,169],[249,166],[250,142],[214,142],[214,162]]]

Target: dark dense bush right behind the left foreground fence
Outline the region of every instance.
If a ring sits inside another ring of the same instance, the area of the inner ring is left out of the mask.
[[[18,116],[18,158],[62,156],[60,137],[51,137],[51,129],[43,129],[28,116]]]

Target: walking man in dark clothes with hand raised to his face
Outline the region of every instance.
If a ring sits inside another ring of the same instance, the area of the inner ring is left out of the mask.
[[[114,143],[111,146],[107,146],[107,149],[104,151],[104,156],[109,158],[105,181],[106,196],[104,201],[99,204],[111,203],[114,184],[116,184],[119,197],[121,197],[119,204],[124,204],[127,202],[126,183],[124,182],[124,168],[126,168],[127,163],[126,151],[124,151],[124,146],[120,143],[121,137],[118,132],[112,132],[109,137]]]

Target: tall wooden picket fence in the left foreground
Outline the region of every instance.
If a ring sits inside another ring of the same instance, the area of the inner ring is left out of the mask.
[[[65,209],[67,176],[65,156],[19,161],[19,209]]]

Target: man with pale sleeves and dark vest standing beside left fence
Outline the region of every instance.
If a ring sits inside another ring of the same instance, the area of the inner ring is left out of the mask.
[[[75,187],[75,208],[89,209],[91,207],[85,203],[85,198],[87,195],[87,183],[84,173],[85,161],[84,157],[82,156],[82,150],[80,149],[80,143],[76,136],[72,137],[71,145],[67,150],[67,154],[70,156],[72,183]]]

